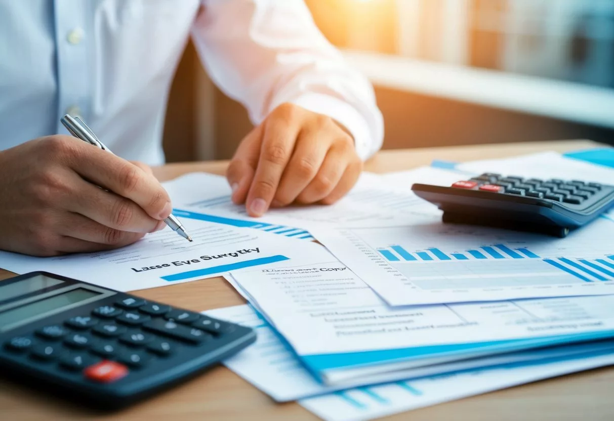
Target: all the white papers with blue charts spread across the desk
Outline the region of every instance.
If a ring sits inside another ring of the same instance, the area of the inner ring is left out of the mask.
[[[165,187],[193,243],[160,231],[111,252],[0,252],[0,266],[118,290],[223,275],[251,306],[207,313],[258,332],[227,366],[326,420],[614,364],[614,212],[550,238],[443,225],[410,189],[481,172],[612,183],[614,170],[556,153],[445,166],[365,173],[332,206],[263,218],[231,203],[223,177],[188,174]]]

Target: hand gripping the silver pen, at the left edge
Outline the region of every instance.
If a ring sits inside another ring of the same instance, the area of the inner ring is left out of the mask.
[[[36,256],[113,249],[164,228],[170,213],[147,166],[74,137],[0,152],[0,249]]]

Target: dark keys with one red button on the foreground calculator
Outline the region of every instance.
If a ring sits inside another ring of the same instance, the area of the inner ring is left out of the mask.
[[[127,297],[4,343],[14,355],[108,383],[235,330],[231,323]]]

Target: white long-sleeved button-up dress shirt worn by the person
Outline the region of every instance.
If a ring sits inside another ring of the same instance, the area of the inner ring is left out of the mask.
[[[188,36],[252,122],[282,102],[346,126],[362,158],[383,122],[370,83],[324,39],[302,0],[0,0],[0,150],[81,115],[113,152],[149,164]]]

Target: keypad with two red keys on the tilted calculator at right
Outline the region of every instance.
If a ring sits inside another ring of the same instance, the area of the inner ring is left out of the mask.
[[[470,180],[457,181],[452,187],[548,199],[572,205],[583,204],[603,188],[599,183],[586,183],[579,180],[523,179],[523,177],[516,176],[503,177],[492,172],[481,174]]]

